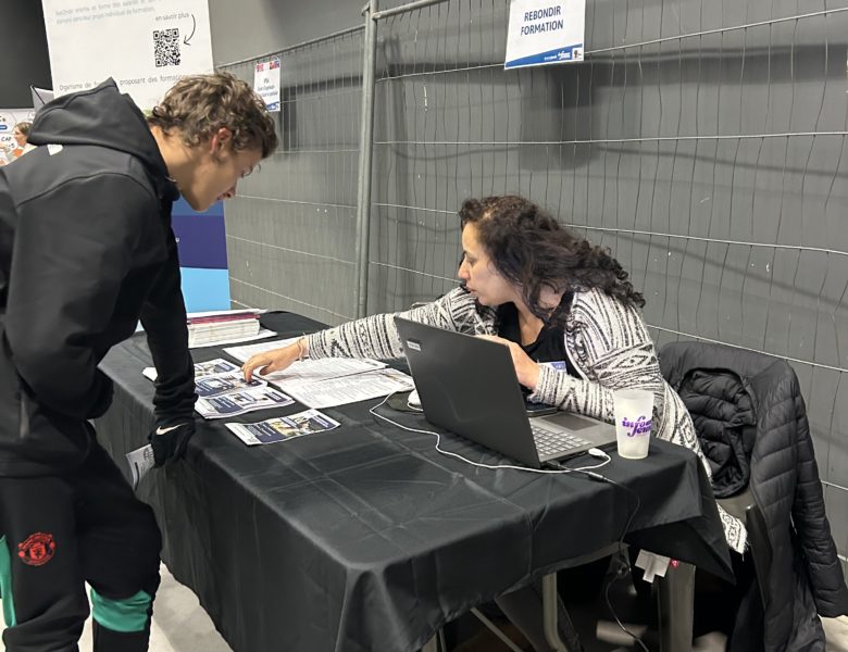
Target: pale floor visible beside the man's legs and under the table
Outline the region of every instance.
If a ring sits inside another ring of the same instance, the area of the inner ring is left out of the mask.
[[[823,618],[827,636],[827,652],[848,652],[848,617],[836,619]],[[0,624],[2,612],[0,611]],[[614,627],[603,627],[608,630],[601,632],[601,638],[615,638]],[[634,648],[621,645],[614,640],[609,644],[587,644],[587,650],[604,650],[609,652],[627,651]],[[86,625],[83,638],[79,641],[83,652],[91,650],[90,620]],[[0,643],[0,651],[5,648]],[[501,652],[509,649],[494,637],[482,637],[477,645],[463,645],[463,650],[485,650],[486,652]],[[708,635],[696,641],[694,650],[698,652],[720,652],[724,650],[724,639],[721,635]],[[232,652],[229,645],[224,642],[215,630],[212,620],[201,609],[195,594],[177,582],[167,568],[162,566],[162,585],[157,594],[154,605],[153,627],[150,636],[150,652]],[[301,652],[301,651],[298,651]],[[309,652],[309,651],[302,651]]]

